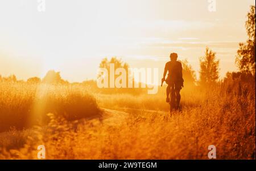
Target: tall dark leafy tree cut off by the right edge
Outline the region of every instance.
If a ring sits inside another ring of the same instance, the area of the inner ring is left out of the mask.
[[[251,6],[245,23],[248,39],[240,43],[237,51],[236,64],[241,72],[255,75],[255,6]]]

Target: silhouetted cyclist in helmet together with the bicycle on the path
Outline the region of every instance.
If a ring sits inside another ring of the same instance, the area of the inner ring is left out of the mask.
[[[165,81],[168,86],[166,88],[166,102],[170,103],[171,110],[180,109],[180,90],[183,87],[182,65],[177,61],[177,54],[171,53],[171,61],[166,63],[162,83]],[[166,74],[168,76],[166,79]],[[171,93],[171,98],[170,98]]]

